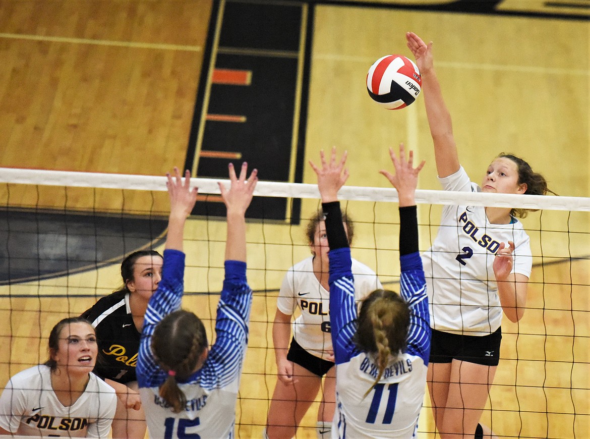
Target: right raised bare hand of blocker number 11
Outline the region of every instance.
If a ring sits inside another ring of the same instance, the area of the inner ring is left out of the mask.
[[[385,169],[379,173],[384,175],[397,189],[400,207],[415,205],[414,194],[418,186],[418,173],[424,168],[425,161],[422,160],[417,168],[414,168],[414,152],[410,150],[408,159],[406,159],[403,143],[399,144],[399,158],[395,155],[393,148],[389,148],[389,157],[394,164],[395,175]]]

